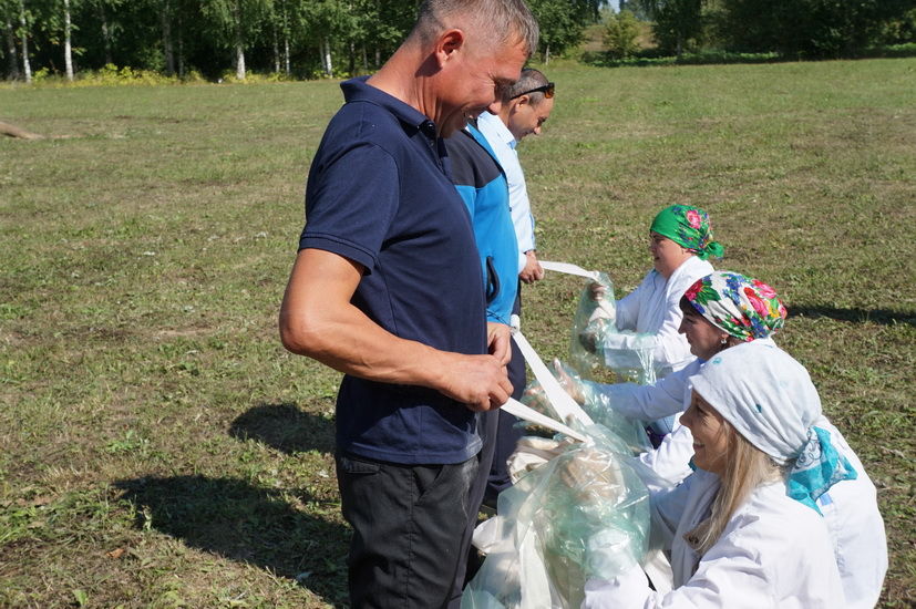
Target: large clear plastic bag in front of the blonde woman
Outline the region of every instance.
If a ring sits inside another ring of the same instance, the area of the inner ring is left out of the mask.
[[[556,443],[556,456],[500,495],[498,516],[474,534],[487,557],[463,609],[579,607],[588,578],[641,562],[649,529],[641,464],[606,427],[585,432],[589,442]]]

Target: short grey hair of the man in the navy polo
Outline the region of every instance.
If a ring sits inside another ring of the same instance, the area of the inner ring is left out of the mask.
[[[462,25],[494,47],[518,41],[528,54],[537,50],[537,20],[524,0],[423,0],[411,37],[429,42],[440,32]]]

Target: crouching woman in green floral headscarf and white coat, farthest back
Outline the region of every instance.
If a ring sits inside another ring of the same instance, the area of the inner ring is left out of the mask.
[[[632,330],[656,338],[653,367],[658,376],[680,370],[691,360],[690,347],[679,334],[681,311],[678,301],[697,279],[712,272],[709,258],[721,258],[723,248],[712,239],[709,214],[698,207],[672,205],[652,220],[649,229],[652,270],[642,282],[615,307],[595,309],[589,328],[581,337],[589,350],[601,323],[614,321],[618,330]],[[595,300],[605,297],[597,283]],[[611,319],[614,314],[614,319]],[[598,329],[596,331],[596,328]]]

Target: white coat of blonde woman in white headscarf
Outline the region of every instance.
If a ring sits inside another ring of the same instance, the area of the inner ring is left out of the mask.
[[[653,535],[671,547],[673,590],[653,591],[636,568],[610,580],[590,579],[583,608],[845,607],[823,518],[789,498],[782,482],[754,489],[717,543],[698,557],[683,534],[709,515],[718,489],[718,476],[699,471],[653,502]]]

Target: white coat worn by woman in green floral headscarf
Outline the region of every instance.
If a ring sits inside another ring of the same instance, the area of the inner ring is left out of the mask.
[[[691,256],[667,280],[657,270],[650,270],[634,291],[617,301],[615,323],[619,330],[655,334],[652,359],[659,378],[693,359],[687,338],[678,333],[682,318],[678,302],[690,286],[713,270],[706,260]]]

